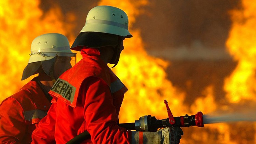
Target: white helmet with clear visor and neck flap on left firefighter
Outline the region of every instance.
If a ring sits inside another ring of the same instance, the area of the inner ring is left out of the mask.
[[[22,80],[38,73],[38,68],[42,65],[43,70],[49,75],[55,57],[64,56],[75,59],[76,53],[72,53],[68,39],[60,33],[47,33],[36,37],[31,44],[30,59],[27,67],[23,71]],[[48,63],[47,63],[48,62]]]

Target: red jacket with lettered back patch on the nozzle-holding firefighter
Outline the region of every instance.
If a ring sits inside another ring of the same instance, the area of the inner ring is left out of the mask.
[[[49,92],[48,115],[32,134],[35,144],[67,143],[88,131],[84,143],[130,143],[131,132],[118,127],[118,114],[128,90],[99,59],[98,49],[82,49],[83,59],[63,73]]]

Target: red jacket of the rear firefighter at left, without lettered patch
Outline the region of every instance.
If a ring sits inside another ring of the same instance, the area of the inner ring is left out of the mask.
[[[29,144],[31,134],[46,116],[51,103],[36,82],[37,77],[0,105],[0,143]]]

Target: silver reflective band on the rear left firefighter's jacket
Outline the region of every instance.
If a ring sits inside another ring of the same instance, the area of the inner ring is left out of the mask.
[[[24,112],[25,120],[29,120],[29,121],[37,118],[41,119],[46,115],[47,115],[47,112],[42,110],[31,110],[31,111]]]

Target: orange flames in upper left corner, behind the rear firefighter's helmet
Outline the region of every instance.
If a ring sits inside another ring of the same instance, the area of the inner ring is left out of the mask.
[[[72,34],[75,16],[69,14],[67,23],[63,23],[63,15],[59,6],[43,13],[39,9],[39,0],[0,2],[0,102],[18,91],[31,80],[20,81],[26,67],[32,40],[44,33],[61,33],[74,39]],[[67,30],[67,28],[69,28]]]

